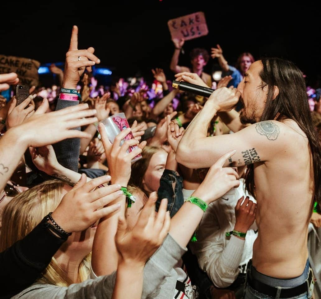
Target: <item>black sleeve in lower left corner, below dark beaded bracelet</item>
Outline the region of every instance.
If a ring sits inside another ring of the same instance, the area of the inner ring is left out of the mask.
[[[26,237],[0,253],[1,298],[10,298],[30,286],[65,242],[45,222],[43,219]]]

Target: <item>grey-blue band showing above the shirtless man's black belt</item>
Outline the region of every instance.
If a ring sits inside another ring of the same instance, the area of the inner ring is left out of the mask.
[[[269,285],[271,287],[297,287],[304,283],[304,281],[308,278],[310,263],[307,260],[307,263],[305,265],[303,273],[295,278],[290,279],[279,279],[279,278],[273,278],[271,276],[264,275],[257,271],[252,265],[251,265],[251,276],[262,282],[266,285]]]

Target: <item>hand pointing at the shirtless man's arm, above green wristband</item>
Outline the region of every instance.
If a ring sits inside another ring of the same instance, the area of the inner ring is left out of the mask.
[[[209,204],[220,198],[231,188],[239,186],[238,173],[231,167],[223,167],[224,163],[234,155],[235,152],[236,150],[233,150],[221,155],[210,167],[205,179],[193,193],[194,196],[201,198]]]

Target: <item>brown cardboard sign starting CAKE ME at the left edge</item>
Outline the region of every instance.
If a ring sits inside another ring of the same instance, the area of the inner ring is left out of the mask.
[[[37,86],[40,62],[30,58],[0,55],[0,74],[17,73],[19,84]]]

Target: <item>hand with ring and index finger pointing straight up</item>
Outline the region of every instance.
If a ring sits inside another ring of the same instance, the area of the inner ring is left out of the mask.
[[[95,49],[78,50],[78,27],[73,26],[69,50],[66,53],[63,87],[76,89],[80,76],[85,69],[91,72],[91,67],[100,60],[94,53]]]

